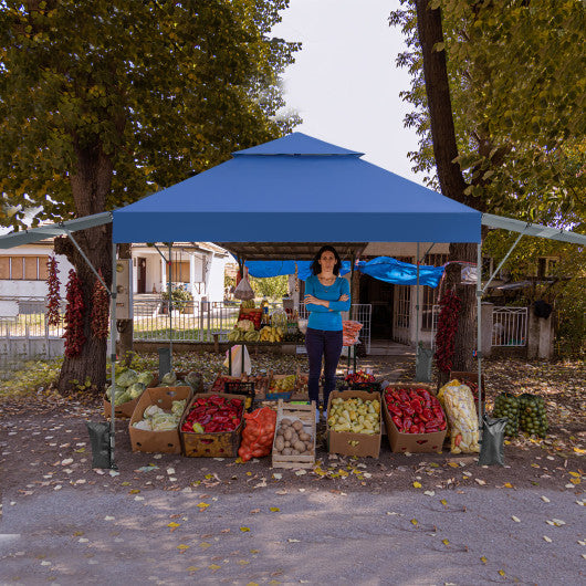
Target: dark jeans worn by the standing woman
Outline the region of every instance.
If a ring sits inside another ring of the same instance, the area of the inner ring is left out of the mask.
[[[307,327],[305,347],[310,359],[310,400],[320,406],[320,375],[322,373],[322,357],[324,358],[324,409],[327,407],[329,393],[336,387],[336,368],[342,354],[342,329],[313,329]]]

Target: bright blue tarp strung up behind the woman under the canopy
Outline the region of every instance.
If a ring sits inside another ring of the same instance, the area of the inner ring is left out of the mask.
[[[247,261],[249,274],[252,276],[278,276],[281,274],[295,274],[295,263],[297,264],[297,278],[305,281],[311,274],[311,261]],[[372,261],[359,261],[356,270],[368,274],[378,281],[394,283],[397,285],[417,284],[417,264],[401,262],[390,257],[377,257]],[[444,266],[419,266],[419,284],[437,287]],[[349,273],[350,263],[343,261],[339,274]]]

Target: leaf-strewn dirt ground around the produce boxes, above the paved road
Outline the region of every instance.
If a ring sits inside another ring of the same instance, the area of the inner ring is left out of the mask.
[[[412,380],[411,360],[362,359],[383,378]],[[101,485],[102,490],[138,494],[149,490],[248,492],[273,486],[283,490],[320,485],[337,493],[397,490],[461,490],[465,486],[521,490],[571,490],[582,494],[586,452],[583,363],[488,360],[486,406],[501,391],[535,393],[544,397],[550,421],[545,439],[520,436],[505,441],[505,467],[479,467],[474,456],[443,452],[398,454],[381,441],[378,459],[331,456],[325,427],[318,426],[317,465],[313,470],[272,469],[271,459],[248,463],[230,459],[188,459],[132,452],[127,421],[116,422],[118,470],[92,469],[85,422],[104,420],[96,400],[64,399],[55,394],[2,398],[0,402],[0,479],[2,498],[30,496]],[[325,486],[324,486],[325,485]],[[134,492],[132,492],[134,491]]]

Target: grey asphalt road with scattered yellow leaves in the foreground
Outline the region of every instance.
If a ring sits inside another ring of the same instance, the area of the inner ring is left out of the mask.
[[[577,585],[580,503],[545,489],[64,486],[4,496],[0,584]]]

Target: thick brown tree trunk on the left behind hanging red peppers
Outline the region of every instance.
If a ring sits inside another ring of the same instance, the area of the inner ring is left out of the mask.
[[[112,163],[100,146],[77,146],[75,154],[77,168],[71,177],[71,187],[77,217],[103,212],[112,182]],[[104,281],[109,287],[112,284],[112,224],[74,232],[73,238],[95,270],[102,270]],[[77,356],[64,357],[57,388],[61,394],[67,394],[80,389],[81,385],[87,388],[87,383],[90,383],[94,393],[102,393],[106,381],[107,342],[92,335],[92,293],[96,276],[69,238],[55,240],[55,252],[67,257],[82,282],[86,337]]]

